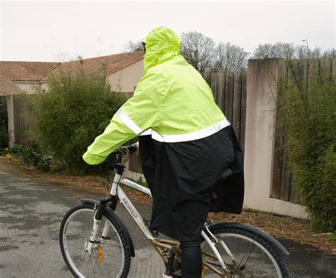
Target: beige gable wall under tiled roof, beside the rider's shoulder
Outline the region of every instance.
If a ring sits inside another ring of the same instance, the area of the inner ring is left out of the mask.
[[[143,77],[143,60],[108,75],[107,79],[113,91],[132,92],[141,77]]]

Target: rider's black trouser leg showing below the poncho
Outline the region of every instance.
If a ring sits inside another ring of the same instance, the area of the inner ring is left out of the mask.
[[[182,278],[201,278],[201,238],[180,240]]]

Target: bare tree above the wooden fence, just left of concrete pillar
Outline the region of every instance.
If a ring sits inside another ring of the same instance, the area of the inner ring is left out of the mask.
[[[216,60],[213,65],[213,71],[246,70],[249,55],[249,52],[246,52],[244,48],[240,48],[238,45],[219,43],[216,48]]]

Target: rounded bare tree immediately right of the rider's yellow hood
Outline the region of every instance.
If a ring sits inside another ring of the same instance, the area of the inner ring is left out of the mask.
[[[213,67],[215,42],[202,33],[187,32],[181,35],[181,55],[198,72],[206,72]]]

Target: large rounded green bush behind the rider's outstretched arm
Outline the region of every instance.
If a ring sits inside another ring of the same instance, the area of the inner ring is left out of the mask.
[[[89,165],[82,155],[124,101],[103,73],[86,74],[79,68],[51,75],[49,90],[37,99],[38,143],[69,174],[83,174]]]

